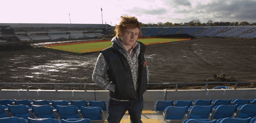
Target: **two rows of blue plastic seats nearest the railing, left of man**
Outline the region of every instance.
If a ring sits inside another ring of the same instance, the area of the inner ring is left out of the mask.
[[[85,100],[0,100],[0,118],[89,118],[103,121],[103,111],[106,111],[105,101]],[[15,105],[14,105],[15,104]]]

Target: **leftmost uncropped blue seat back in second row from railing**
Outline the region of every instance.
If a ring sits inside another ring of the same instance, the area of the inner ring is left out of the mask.
[[[20,105],[9,105],[8,104],[9,112],[14,116],[18,118],[31,118],[32,114],[30,114],[29,109],[31,109],[29,106],[20,104]]]

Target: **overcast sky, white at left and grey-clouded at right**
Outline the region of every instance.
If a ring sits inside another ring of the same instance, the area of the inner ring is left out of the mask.
[[[131,15],[143,24],[256,22],[256,0],[0,0],[0,23],[119,24]],[[103,9],[101,14],[101,8]],[[70,19],[69,19],[70,14]]]

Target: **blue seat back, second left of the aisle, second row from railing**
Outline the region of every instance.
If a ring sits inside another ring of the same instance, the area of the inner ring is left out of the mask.
[[[74,105],[68,106],[56,106],[57,112],[59,113],[60,119],[68,119],[68,118],[80,118],[78,113],[78,108]]]

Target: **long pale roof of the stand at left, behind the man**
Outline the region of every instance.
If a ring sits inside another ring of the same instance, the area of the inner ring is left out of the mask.
[[[49,28],[49,27],[65,27],[65,28],[102,28],[110,26],[109,24],[25,24],[25,23],[0,23],[0,27],[5,29],[12,28]]]

